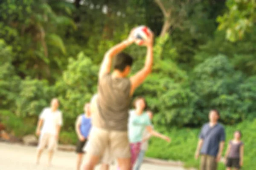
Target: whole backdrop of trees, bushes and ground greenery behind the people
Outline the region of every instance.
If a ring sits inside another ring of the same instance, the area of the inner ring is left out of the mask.
[[[0,118],[17,137],[34,133],[38,115],[58,97],[60,142],[76,143],[74,121],[96,93],[106,50],[131,28],[155,34],[154,68],[136,91],[154,111],[148,156],[198,166],[194,152],[209,109],[221,111],[227,141],[244,133],[244,169],[256,167],[256,3],[254,0],[2,0]],[[143,66],[145,48],[134,56]],[[224,169],[220,164],[219,169]]]

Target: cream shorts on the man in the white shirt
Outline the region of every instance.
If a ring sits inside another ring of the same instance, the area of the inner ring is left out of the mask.
[[[48,150],[56,150],[57,149],[57,140],[55,135],[49,133],[41,134],[38,143],[38,149],[42,150],[46,146],[48,146]]]

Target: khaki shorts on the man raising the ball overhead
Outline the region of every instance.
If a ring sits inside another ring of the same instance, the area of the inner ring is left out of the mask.
[[[92,127],[88,139],[87,153],[103,156],[102,161],[114,158],[130,158],[128,133]]]

